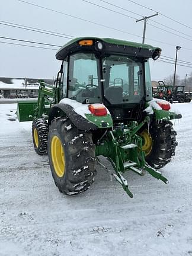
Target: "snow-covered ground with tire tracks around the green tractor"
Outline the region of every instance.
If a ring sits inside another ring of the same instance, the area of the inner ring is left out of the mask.
[[[101,168],[85,193],[59,193],[47,156],[34,152],[31,122],[1,104],[0,256],[192,255],[192,103],[175,105],[177,151],[161,169],[169,185],[129,172],[130,199]]]

